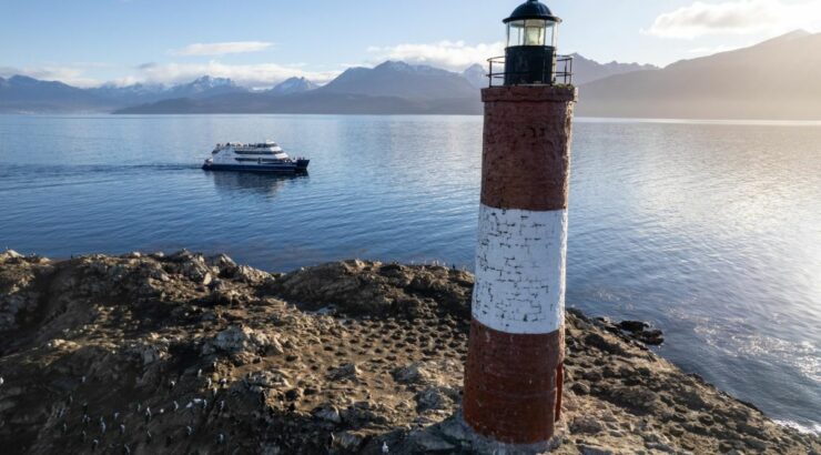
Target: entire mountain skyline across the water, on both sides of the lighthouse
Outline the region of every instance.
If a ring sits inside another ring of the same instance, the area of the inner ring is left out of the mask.
[[[666,68],[598,63],[574,54],[586,117],[821,119],[821,33],[795,31],[744,49]],[[174,87],[79,89],[14,75],[0,78],[0,112],[435,113],[480,114],[485,67],[463,72],[387,61],[351,68],[325,85],[292,78],[268,90],[202,77]]]

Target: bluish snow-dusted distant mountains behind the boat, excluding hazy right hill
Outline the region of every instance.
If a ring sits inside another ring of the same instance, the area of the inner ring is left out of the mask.
[[[581,60],[585,64],[577,74],[581,80],[640,68]],[[105,84],[92,89],[14,75],[0,78],[0,112],[479,114],[477,90],[487,84],[486,70],[479,64],[456,73],[399,61],[351,68],[322,87],[291,78],[268,90],[250,90],[209,75],[173,87]]]

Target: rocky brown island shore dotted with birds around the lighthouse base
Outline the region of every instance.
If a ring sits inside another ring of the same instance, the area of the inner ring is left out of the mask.
[[[185,251],[0,254],[0,453],[473,453],[473,276],[348,261],[270,274]],[[558,454],[819,454],[647,344],[568,312]]]

